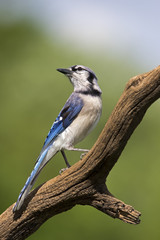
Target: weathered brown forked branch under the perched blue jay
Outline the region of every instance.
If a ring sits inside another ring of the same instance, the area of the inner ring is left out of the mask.
[[[89,153],[32,191],[19,212],[13,214],[10,206],[0,216],[0,238],[25,239],[47,219],[76,204],[93,206],[127,223],[139,223],[140,212],[113,197],[105,182],[146,110],[159,97],[160,66],[131,78]]]

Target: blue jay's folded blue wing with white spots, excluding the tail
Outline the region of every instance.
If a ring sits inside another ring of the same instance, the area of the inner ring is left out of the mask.
[[[82,107],[83,100],[73,93],[53,123],[44,142],[42,151],[44,151],[44,149],[46,149],[46,147],[48,147],[54,139],[72,123]]]

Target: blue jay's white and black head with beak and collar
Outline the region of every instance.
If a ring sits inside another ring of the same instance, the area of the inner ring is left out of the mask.
[[[70,68],[58,68],[57,71],[65,74],[74,86],[75,92],[84,92],[92,95],[101,95],[95,73],[88,67],[74,65]]]

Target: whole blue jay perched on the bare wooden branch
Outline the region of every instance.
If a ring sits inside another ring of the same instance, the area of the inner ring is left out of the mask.
[[[42,168],[56,153],[62,153],[66,166],[69,168],[70,164],[64,150],[80,151],[84,154],[89,151],[74,146],[91,132],[101,116],[102,91],[95,73],[83,65],[58,68],[57,71],[69,78],[74,90],[46,137],[34,169],[13,207],[13,213],[20,210]]]

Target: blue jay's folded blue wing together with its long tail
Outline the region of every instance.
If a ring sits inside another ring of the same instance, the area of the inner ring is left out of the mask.
[[[62,108],[55,122],[53,123],[51,130],[49,131],[48,136],[44,142],[42,151],[37,159],[36,165],[31,175],[27,179],[23,189],[20,192],[18,200],[13,208],[13,212],[20,209],[24,199],[26,198],[29,191],[31,190],[40,171],[45,166],[45,164],[49,161],[49,159],[46,159],[45,157],[53,141],[61,132],[63,132],[72,123],[72,121],[76,118],[76,116],[81,111],[82,107],[83,107],[82,99],[78,97],[76,93],[73,93],[68,99],[68,101],[66,102],[66,104],[64,105],[64,107]]]

